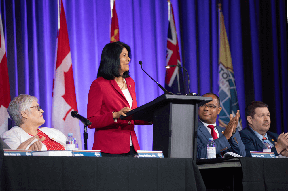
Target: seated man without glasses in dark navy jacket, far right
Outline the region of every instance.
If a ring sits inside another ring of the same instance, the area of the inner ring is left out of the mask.
[[[288,156],[288,133],[273,133],[270,128],[270,112],[268,105],[261,101],[253,101],[245,108],[249,127],[239,131],[245,145],[247,157],[252,157],[250,151],[263,151],[264,140],[269,140],[271,152],[275,156],[281,154]]]

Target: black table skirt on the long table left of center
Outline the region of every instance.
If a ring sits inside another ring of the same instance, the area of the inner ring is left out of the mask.
[[[188,158],[4,156],[1,190],[206,190]]]

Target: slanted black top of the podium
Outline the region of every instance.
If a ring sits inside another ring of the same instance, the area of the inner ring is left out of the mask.
[[[146,103],[140,107],[137,107],[126,113],[126,117],[120,115],[121,119],[126,120],[143,120],[143,121],[153,121],[153,112],[155,109],[166,105],[167,103],[178,103],[178,104],[205,104],[212,101],[212,97],[202,97],[202,96],[184,96],[184,95],[167,95],[163,94],[153,101]]]

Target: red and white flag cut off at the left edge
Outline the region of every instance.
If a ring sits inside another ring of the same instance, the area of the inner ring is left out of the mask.
[[[8,118],[9,114],[7,108],[11,101],[10,85],[8,77],[7,57],[5,48],[5,37],[0,14],[0,134],[8,131]]]

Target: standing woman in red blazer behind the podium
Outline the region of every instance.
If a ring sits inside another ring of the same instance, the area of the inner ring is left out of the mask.
[[[120,120],[120,115],[137,108],[135,82],[129,76],[131,51],[127,44],[113,42],[102,50],[97,79],[88,94],[87,118],[95,129],[92,149],[102,156],[132,156],[140,150],[136,125],[145,121]]]

